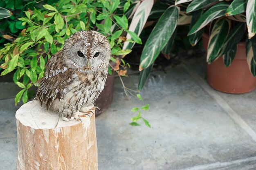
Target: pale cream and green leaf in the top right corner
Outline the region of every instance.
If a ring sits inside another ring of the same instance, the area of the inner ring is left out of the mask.
[[[256,0],[247,0],[246,23],[248,38],[251,39],[256,33]]]

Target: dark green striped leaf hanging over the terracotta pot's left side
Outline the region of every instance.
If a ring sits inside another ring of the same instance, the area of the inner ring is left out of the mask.
[[[207,49],[207,62],[209,64],[220,57],[219,54],[228,35],[230,24],[231,22],[227,18],[219,19],[214,24]]]

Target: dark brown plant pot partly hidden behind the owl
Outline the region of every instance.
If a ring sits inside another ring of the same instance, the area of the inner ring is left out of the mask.
[[[113,100],[113,86],[114,86],[114,75],[108,75],[105,86],[97,100],[94,102],[94,106],[100,108],[95,110],[95,115],[100,115],[107,110]]]

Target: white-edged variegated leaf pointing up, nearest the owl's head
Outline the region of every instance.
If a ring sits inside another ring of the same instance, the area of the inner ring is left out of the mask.
[[[144,0],[143,2],[141,2],[138,9],[134,13],[132,22],[130,23],[130,26],[129,26],[129,31],[136,33],[138,36],[140,35],[140,33],[148,19],[148,16],[153,7],[153,4],[154,4],[154,0]],[[127,34],[126,38],[131,39],[130,34]],[[126,41],[124,43],[123,50],[132,49],[134,44],[135,44],[134,42]]]

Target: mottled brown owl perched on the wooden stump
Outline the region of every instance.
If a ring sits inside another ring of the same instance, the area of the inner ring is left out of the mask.
[[[104,88],[108,75],[110,44],[97,31],[78,31],[68,38],[62,51],[45,64],[44,77],[35,100],[46,104],[65,121],[85,117]]]

